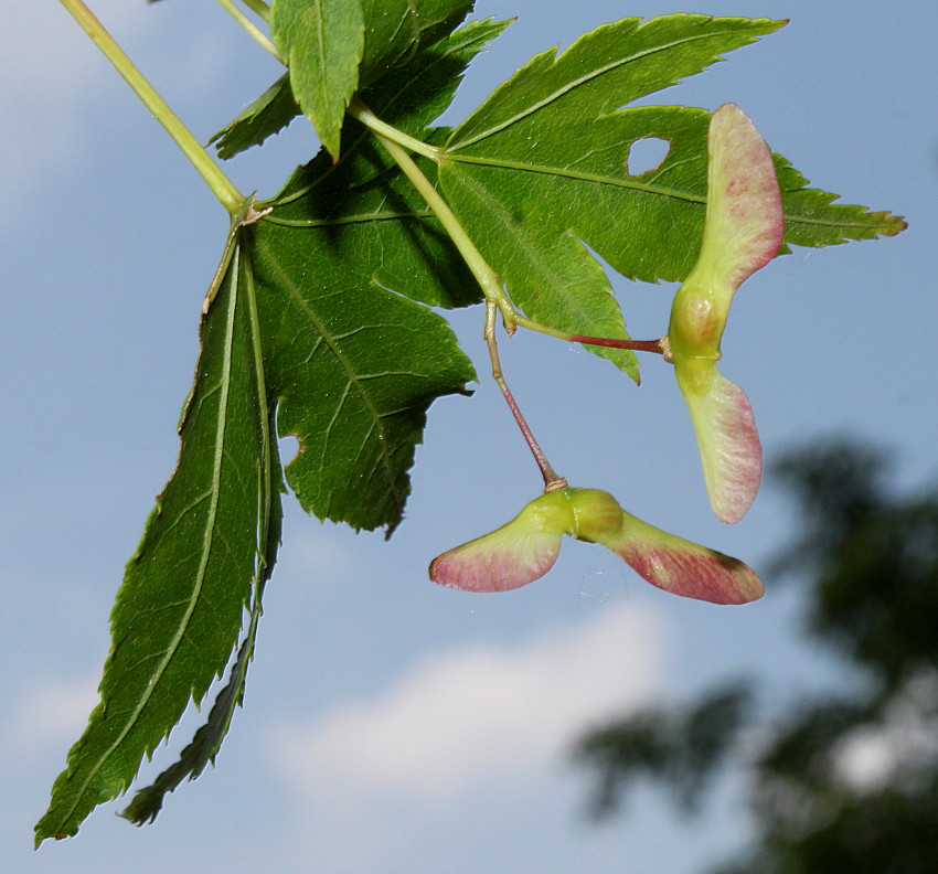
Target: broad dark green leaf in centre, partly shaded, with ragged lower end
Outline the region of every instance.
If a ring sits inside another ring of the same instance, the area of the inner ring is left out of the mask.
[[[385,173],[345,189],[320,156],[249,228],[271,394],[300,503],[354,527],[401,521],[427,407],[475,379],[446,322],[478,287],[426,206]],[[328,205],[327,205],[328,204]]]

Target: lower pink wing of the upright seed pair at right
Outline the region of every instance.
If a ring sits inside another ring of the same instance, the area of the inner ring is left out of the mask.
[[[749,398],[715,363],[707,379],[687,379],[681,362],[675,362],[675,373],[691,412],[713,512],[721,522],[738,522],[763,479],[763,445]]]

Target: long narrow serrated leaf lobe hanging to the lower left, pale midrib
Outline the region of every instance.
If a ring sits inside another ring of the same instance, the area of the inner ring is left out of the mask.
[[[97,804],[126,791],[142,758],[224,671],[252,591],[256,611],[270,572],[276,449],[253,287],[232,242],[202,321],[179,462],[127,565],[102,701],[55,781],[38,843],[74,834]],[[213,734],[221,739],[222,726]]]

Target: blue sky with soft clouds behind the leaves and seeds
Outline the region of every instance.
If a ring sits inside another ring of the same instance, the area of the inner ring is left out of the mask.
[[[390,543],[321,525],[287,501],[246,706],[217,768],[138,830],[95,813],[33,853],[65,753],[94,704],[107,615],[153,495],[198,352],[204,288],[226,217],[163,131],[56,3],[8,4],[0,33],[0,215],[6,318],[0,577],[0,862],[4,870],[140,874],[699,870],[749,833],[745,787],[674,821],[652,790],[601,829],[565,750],[594,718],[758,671],[769,702],[839,682],[804,647],[798,595],[767,579],[746,608],[682,601],[611,554],[567,542],[554,571],[511,595],[434,587],[430,558],[511,518],[539,475],[498,391],[430,411],[407,518]],[[211,2],[98,0],[95,11],[204,139],[278,75]],[[849,433],[891,446],[897,486],[934,481],[938,237],[938,11],[932,3],[480,0],[519,17],[470,71],[455,121],[552,44],[626,14],[789,18],[725,64],[654,98],[733,100],[814,184],[904,214],[897,238],[796,251],[740,291],[723,371],[747,391],[769,460]],[[315,149],[295,124],[226,167],[273,193]],[[672,289],[617,280],[636,337],[663,332]],[[484,372],[481,313],[458,313]],[[554,466],[632,512],[748,561],[785,541],[768,487],[739,524],[710,513],[670,369],[636,388],[604,362],[523,335],[503,364]],[[158,760],[172,760],[188,718]]]

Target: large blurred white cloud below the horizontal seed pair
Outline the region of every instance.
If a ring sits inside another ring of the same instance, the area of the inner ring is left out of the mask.
[[[493,776],[507,788],[552,767],[589,721],[647,701],[660,640],[657,615],[627,605],[518,647],[441,652],[375,699],[271,729],[271,755],[313,793],[436,802]]]

